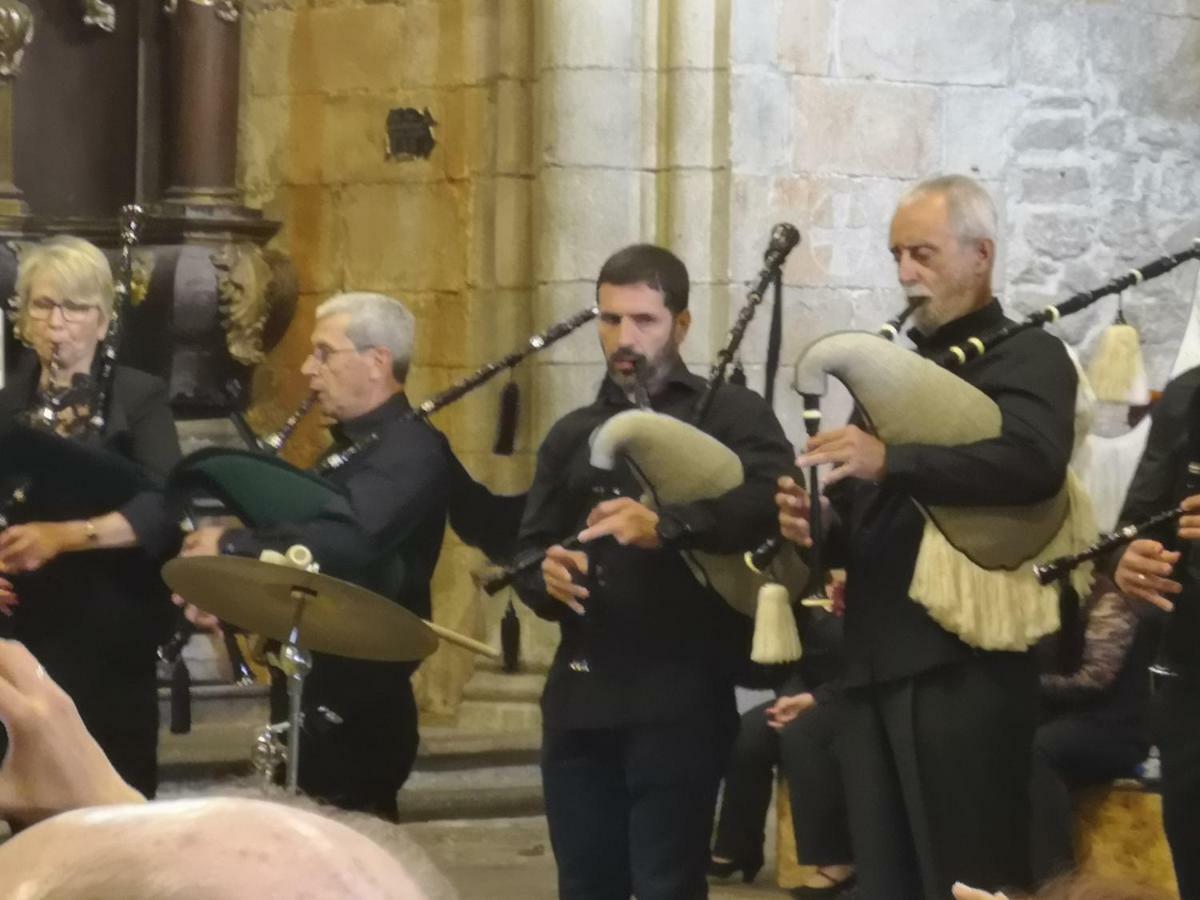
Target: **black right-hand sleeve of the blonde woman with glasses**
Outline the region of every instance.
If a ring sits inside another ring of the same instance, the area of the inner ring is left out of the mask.
[[[166,479],[181,456],[179,436],[167,402],[166,382],[154,378],[148,385],[142,396],[126,409],[128,452],[151,476]],[[130,523],[138,546],[148,557],[161,559],[178,551],[181,539],[180,512],[168,503],[162,490],[142,491],[116,511]]]

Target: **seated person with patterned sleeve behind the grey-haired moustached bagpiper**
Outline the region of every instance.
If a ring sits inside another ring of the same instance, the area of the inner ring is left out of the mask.
[[[1140,610],[1098,578],[1084,608],[1084,646],[1078,666],[1056,672],[1057,659],[1039,646],[1043,720],[1033,740],[1030,829],[1034,880],[1074,868],[1070,791],[1130,778],[1146,758],[1146,710],[1153,629]]]

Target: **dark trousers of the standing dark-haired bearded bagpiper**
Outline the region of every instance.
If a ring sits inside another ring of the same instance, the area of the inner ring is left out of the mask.
[[[737,719],[542,734],[560,900],[703,900],[716,787]]]

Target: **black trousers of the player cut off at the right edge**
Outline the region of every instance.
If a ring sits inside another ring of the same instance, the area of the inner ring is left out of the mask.
[[[1163,826],[1183,900],[1200,900],[1200,678],[1166,679],[1153,702]]]

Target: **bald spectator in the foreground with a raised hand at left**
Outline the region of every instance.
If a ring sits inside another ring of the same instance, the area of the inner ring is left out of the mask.
[[[0,641],[0,817],[32,824],[0,845],[0,896],[427,898],[386,851],[322,816],[236,798],[146,803],[13,641]]]

